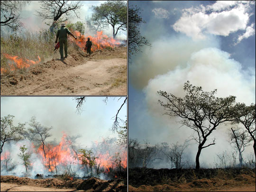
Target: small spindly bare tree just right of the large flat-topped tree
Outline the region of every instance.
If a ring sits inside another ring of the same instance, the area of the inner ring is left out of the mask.
[[[230,142],[231,146],[235,146],[235,149],[238,150],[239,154],[239,167],[243,165],[242,152],[245,150],[245,147],[251,142],[252,138],[247,135],[246,131],[243,131],[241,128],[231,128]]]

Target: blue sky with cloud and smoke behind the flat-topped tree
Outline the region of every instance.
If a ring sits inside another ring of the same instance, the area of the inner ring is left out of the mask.
[[[146,24],[140,31],[152,44],[129,65],[130,138],[153,145],[187,139],[192,132],[162,115],[156,91],[182,97],[188,80],[205,91],[218,89],[217,96],[235,95],[239,102],[255,103],[255,1],[129,1],[130,5],[143,9]],[[227,131],[224,126],[216,130],[217,144],[210,150],[228,145]]]

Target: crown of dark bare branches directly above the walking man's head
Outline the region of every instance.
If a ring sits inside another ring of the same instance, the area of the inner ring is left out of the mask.
[[[74,18],[73,14],[79,18],[77,10],[81,9],[80,1],[74,0],[41,0],[41,10],[37,10],[37,16],[43,19],[58,20],[62,16],[65,19]]]

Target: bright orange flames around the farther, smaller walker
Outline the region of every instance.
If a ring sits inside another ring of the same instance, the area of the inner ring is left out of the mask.
[[[119,41],[114,39],[113,37],[108,37],[107,35],[104,35],[102,31],[97,31],[97,34],[92,36],[84,36],[81,35],[79,31],[74,31],[73,34],[78,37],[77,40],[74,40],[71,38],[71,41],[73,41],[77,46],[79,46],[83,51],[86,45],[87,38],[90,37],[92,42],[91,51],[95,51],[97,49],[104,49],[106,47],[112,47],[120,45]]]

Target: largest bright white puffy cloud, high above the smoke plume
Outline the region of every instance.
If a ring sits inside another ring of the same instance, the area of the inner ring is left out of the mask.
[[[204,39],[207,34],[229,36],[246,29],[251,15],[250,4],[247,1],[217,1],[206,7],[183,9],[182,17],[173,27],[193,39]]]

